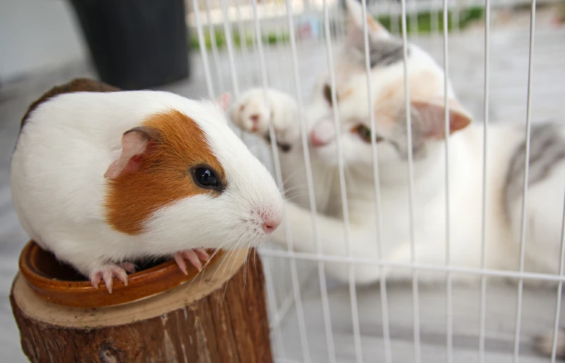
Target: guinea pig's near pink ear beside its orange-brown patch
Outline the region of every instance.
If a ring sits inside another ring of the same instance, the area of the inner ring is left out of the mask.
[[[104,177],[115,179],[121,174],[137,172],[143,164],[143,155],[148,153],[151,143],[158,137],[159,131],[147,126],[126,131],[121,136],[121,154],[106,170]]]

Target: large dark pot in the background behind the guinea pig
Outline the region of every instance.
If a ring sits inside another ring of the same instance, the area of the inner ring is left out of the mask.
[[[189,76],[184,0],[71,0],[101,81],[124,90]]]

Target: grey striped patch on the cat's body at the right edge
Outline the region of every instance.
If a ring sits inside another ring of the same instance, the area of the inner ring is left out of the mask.
[[[545,123],[531,127],[528,186],[547,177],[552,167],[565,158],[565,142],[556,124]],[[507,215],[510,210],[509,202],[522,196],[524,165],[525,140],[514,150],[508,172],[506,172],[504,205]]]

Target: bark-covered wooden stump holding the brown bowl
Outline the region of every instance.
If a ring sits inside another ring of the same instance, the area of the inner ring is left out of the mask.
[[[114,307],[54,304],[19,273],[10,302],[34,363],[273,362],[263,269],[253,249],[223,254],[194,280]]]

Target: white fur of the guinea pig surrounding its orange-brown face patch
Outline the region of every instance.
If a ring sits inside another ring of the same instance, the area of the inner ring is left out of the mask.
[[[103,175],[119,156],[122,134],[169,109],[203,130],[225,169],[227,189],[157,210],[142,234],[117,232],[105,221]],[[85,275],[105,263],[261,243],[266,234],[258,213],[280,218],[282,208],[273,178],[229,129],[218,105],[156,91],[69,93],[43,102],[20,133],[11,189],[30,237]]]

